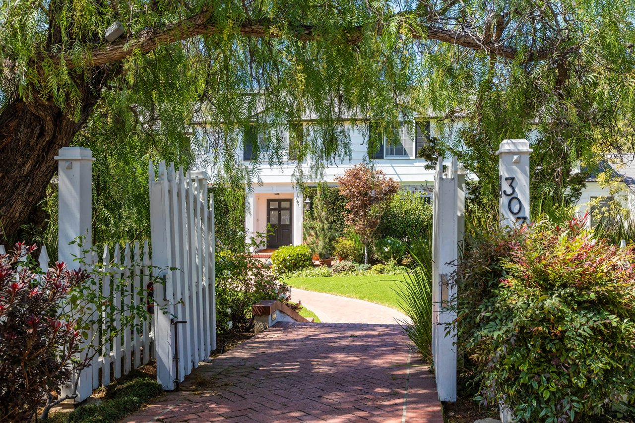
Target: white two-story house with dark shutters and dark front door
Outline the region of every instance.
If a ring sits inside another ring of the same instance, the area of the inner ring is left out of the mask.
[[[345,130],[349,134],[351,154],[326,166],[319,178],[305,177],[305,185],[326,182],[335,186],[335,178],[344,175],[345,170],[359,163],[370,163],[406,189],[421,192],[424,196],[430,195],[434,171],[426,169],[428,162],[417,157],[419,149],[435,136],[434,127],[431,128],[429,121],[418,121],[416,125],[404,124],[398,138],[386,137],[382,131],[374,130],[368,124],[345,124]],[[252,184],[246,199],[244,226],[248,239],[266,232],[267,225],[271,225],[272,232],[267,239],[260,239],[263,248],[302,244],[304,210],[310,206],[295,184],[294,172],[297,172],[298,161],[293,143],[289,142],[288,131],[282,131],[280,135],[284,140],[282,163],[272,166],[266,160],[262,161],[259,165],[262,183]],[[262,137],[253,127],[246,128],[242,137],[239,143],[241,151],[237,154],[243,158],[243,164],[250,166],[251,161],[256,159],[253,145]],[[378,137],[374,138],[377,141],[369,142],[371,137]],[[375,151],[370,151],[369,145]],[[300,163],[304,175],[311,174],[311,164],[310,159]]]

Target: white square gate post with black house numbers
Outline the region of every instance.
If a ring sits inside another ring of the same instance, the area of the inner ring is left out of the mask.
[[[498,197],[500,224],[529,224],[529,154],[527,140],[504,140],[498,156]]]

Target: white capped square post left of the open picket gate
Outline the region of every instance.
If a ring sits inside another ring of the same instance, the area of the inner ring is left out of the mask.
[[[92,175],[93,154],[84,147],[63,147],[55,156],[58,161],[58,261],[64,262],[69,269],[81,267],[76,258],[88,261],[92,255],[84,257],[93,238],[92,220]],[[72,243],[82,237],[82,245]],[[72,244],[71,244],[72,243]],[[92,333],[88,339],[92,339]],[[89,341],[90,342],[90,341]],[[83,346],[87,341],[83,341]],[[77,397],[74,401],[83,401],[93,393],[91,369],[82,372],[77,384]],[[62,395],[72,395],[72,387],[62,388]]]

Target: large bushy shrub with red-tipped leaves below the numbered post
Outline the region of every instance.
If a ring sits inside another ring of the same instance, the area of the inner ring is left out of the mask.
[[[582,220],[476,232],[457,269],[459,345],[478,399],[518,421],[617,415],[635,400],[635,248]]]

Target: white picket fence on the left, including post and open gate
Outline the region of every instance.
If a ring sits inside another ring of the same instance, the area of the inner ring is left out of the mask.
[[[86,257],[86,252],[94,251],[90,244],[94,158],[83,147],[64,147],[58,154],[58,261],[91,272],[87,283],[110,299],[104,304],[113,307],[85,311],[84,319],[95,324],[83,340],[79,358],[104,346],[79,375],[74,401],[85,400],[93,389],[152,358],[157,362],[157,381],[164,389],[174,389],[216,349],[214,209],[213,199],[207,201],[207,175],[194,171],[186,177],[182,168],[177,173],[173,164],[166,168],[161,162],[155,176],[150,162],[151,258],[147,241],[143,248],[138,242],[126,243],[123,251],[116,245],[112,256],[105,246],[102,257],[95,252]],[[76,242],[79,238],[83,245]],[[77,257],[83,257],[83,265]],[[44,271],[51,264],[45,246],[38,262]],[[122,321],[130,320],[131,307],[147,307],[149,283],[154,284],[154,316],[142,319],[133,314],[131,330],[121,330]],[[113,311],[123,314],[117,318]],[[102,343],[111,327],[120,335]],[[65,394],[73,394],[72,384],[62,387]]]

